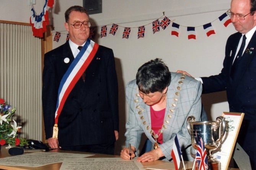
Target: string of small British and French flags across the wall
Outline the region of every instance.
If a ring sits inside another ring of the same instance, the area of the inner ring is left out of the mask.
[[[180,28],[184,27],[187,30],[188,40],[190,40],[190,39],[196,39],[196,29],[199,28],[199,27],[202,27],[205,31],[205,36],[209,37],[212,34],[215,34],[215,30],[212,26],[213,22],[219,21],[225,27],[227,27],[231,23],[231,19],[227,15],[227,13],[223,13],[221,16],[219,16],[214,21],[211,21],[209,23],[206,23],[206,24],[203,24],[203,25],[200,25],[200,26],[183,26],[183,25],[180,25],[180,24],[178,24],[174,21],[175,20],[171,20],[168,17],[166,17],[165,12],[163,12],[163,15],[160,18],[155,19],[151,23],[145,24],[143,26],[126,27],[126,26],[121,26],[120,24],[111,23],[111,24],[107,24],[107,25],[104,25],[104,26],[92,27],[92,28],[90,28],[90,39],[93,39],[93,37],[95,35],[95,29],[100,29],[100,37],[104,38],[104,37],[107,37],[108,34],[112,34],[113,36],[115,36],[116,32],[119,31],[120,28],[123,29],[122,38],[129,39],[131,29],[137,29],[138,30],[137,39],[140,39],[140,38],[144,38],[144,36],[145,36],[145,26],[148,26],[148,25],[152,24],[152,33],[153,34],[159,32],[161,30],[163,31],[168,26],[171,26],[170,35],[171,36],[176,36],[176,37],[179,37],[179,35],[181,34]],[[61,33],[61,32],[62,31],[56,31],[55,32],[54,41],[59,42],[60,35],[65,34],[65,33]],[[69,36],[67,34],[66,40],[68,40],[68,37]]]

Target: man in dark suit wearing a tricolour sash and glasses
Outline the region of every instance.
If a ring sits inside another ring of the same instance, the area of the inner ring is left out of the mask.
[[[70,39],[44,56],[46,139],[51,148],[114,154],[119,131],[114,54],[88,39],[89,19],[82,6],[68,8]]]

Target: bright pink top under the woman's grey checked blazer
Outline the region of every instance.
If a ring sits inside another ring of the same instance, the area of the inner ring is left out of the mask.
[[[163,120],[165,118],[165,108],[159,111],[155,111],[152,106],[150,106],[150,116],[151,116],[151,128],[154,134],[158,134],[157,142],[163,143],[163,135],[159,133],[159,130],[163,126]]]

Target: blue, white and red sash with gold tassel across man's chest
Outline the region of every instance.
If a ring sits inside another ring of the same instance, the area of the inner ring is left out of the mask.
[[[83,48],[78,53],[77,57],[68,67],[68,70],[60,81],[58,90],[58,99],[55,111],[55,125],[53,128],[52,138],[58,138],[58,118],[65,104],[65,101],[72,91],[77,81],[81,78],[91,60],[95,56],[99,45],[88,39]]]

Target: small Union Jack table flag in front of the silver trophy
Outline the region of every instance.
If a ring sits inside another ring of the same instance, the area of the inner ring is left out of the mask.
[[[197,147],[196,160],[198,163],[199,170],[208,169],[207,153],[202,138],[200,138],[199,146]]]

